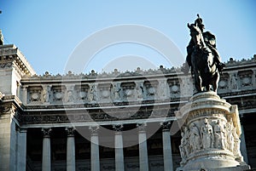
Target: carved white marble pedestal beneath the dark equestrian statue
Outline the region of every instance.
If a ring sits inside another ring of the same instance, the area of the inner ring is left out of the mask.
[[[247,170],[240,152],[241,124],[237,105],[214,92],[193,95],[176,112],[181,126],[182,157],[177,170]]]

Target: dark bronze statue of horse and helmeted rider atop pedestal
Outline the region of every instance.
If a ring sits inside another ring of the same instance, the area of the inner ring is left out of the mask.
[[[188,23],[191,40],[186,60],[194,77],[197,93],[210,90],[217,92],[219,73],[224,64],[221,63],[216,48],[215,36],[209,31],[203,32],[202,19],[199,14],[197,16],[194,24]]]

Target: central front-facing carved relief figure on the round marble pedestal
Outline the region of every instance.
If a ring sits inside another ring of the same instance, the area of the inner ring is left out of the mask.
[[[203,149],[212,148],[213,146],[213,131],[208,119],[204,119],[204,125],[201,126],[201,139]]]

